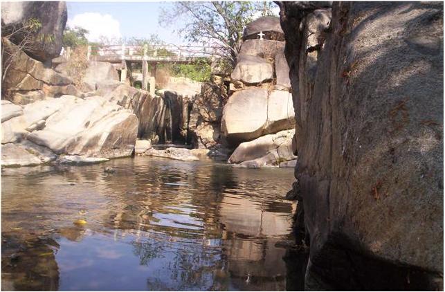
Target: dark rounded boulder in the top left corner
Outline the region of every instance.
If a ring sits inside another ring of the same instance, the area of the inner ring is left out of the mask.
[[[19,30],[28,19],[37,19],[42,27],[28,39],[24,50],[40,62],[51,62],[62,50],[63,31],[66,25],[66,3],[64,1],[17,1],[1,3],[1,35]],[[24,33],[15,33],[13,43],[23,41]],[[51,40],[48,40],[51,39]]]

